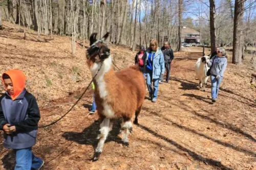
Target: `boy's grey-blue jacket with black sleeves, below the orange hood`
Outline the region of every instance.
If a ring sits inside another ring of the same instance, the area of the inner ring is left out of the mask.
[[[37,123],[40,119],[35,97],[24,89],[15,100],[12,100],[6,92],[1,96],[0,103],[0,130],[3,130],[5,124],[16,126],[16,132],[11,135],[4,133],[4,147],[24,149],[35,145]]]

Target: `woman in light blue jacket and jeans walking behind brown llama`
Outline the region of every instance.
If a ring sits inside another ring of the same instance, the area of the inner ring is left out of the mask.
[[[150,93],[149,99],[155,103],[157,102],[159,79],[164,74],[164,57],[156,39],[150,42],[150,47],[143,56],[143,60],[145,61],[143,70],[146,74],[146,85]]]

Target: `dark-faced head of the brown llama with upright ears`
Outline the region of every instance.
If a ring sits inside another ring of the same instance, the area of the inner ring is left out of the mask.
[[[109,32],[99,40],[96,39],[96,36],[97,33],[93,33],[90,36],[90,47],[87,50],[87,59],[90,59],[93,63],[104,61],[110,56],[110,48],[108,48],[108,45],[105,43]]]

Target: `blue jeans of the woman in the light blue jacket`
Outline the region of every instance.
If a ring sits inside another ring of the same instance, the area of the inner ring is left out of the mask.
[[[157,98],[158,86],[159,86],[159,79],[153,79],[154,83],[154,91],[152,89],[152,70],[147,70],[146,73],[146,86],[150,95],[153,95],[153,98]]]

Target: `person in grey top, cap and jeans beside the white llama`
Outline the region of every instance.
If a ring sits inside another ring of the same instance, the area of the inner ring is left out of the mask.
[[[227,67],[226,51],[224,47],[218,48],[217,55],[208,61],[210,68],[211,80],[211,99],[215,103],[217,101],[220,84],[224,77],[224,72]]]

